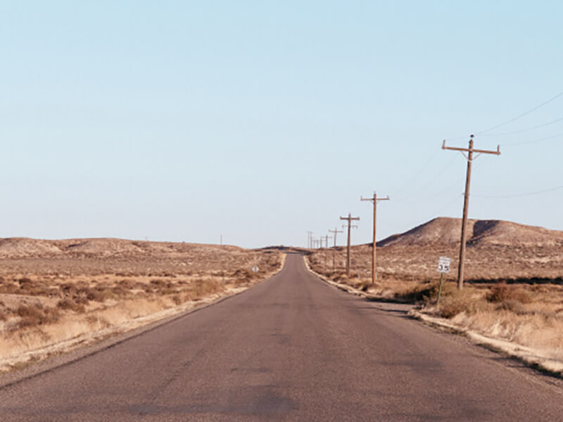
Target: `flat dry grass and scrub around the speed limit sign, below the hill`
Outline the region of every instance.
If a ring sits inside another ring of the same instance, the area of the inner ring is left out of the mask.
[[[466,274],[469,283],[457,290],[453,272],[436,306],[439,256],[455,257],[454,247],[387,246],[378,248],[378,283],[371,286],[371,248],[353,248],[352,271],[343,272],[344,251],[337,251],[336,271],[332,251],[315,250],[308,256],[312,269],[333,281],[365,290],[381,298],[416,303],[423,312],[450,319],[467,328],[539,350],[552,359],[563,359],[563,248],[521,248],[482,245],[468,248]]]

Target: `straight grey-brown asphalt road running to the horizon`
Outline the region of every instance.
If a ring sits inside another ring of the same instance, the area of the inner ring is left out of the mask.
[[[563,421],[559,381],[308,273],[0,389],[0,421]]]

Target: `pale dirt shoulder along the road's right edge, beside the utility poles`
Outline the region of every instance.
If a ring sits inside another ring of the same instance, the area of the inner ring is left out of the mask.
[[[369,293],[365,293],[364,291],[353,288],[352,286],[348,286],[343,283],[337,283],[336,281],[327,279],[327,277],[315,272],[305,259],[305,255],[303,255],[303,262],[305,263],[305,267],[308,269],[308,271],[310,271],[311,274],[314,274],[325,283],[339,288],[340,290],[344,290],[347,293],[351,293],[353,295],[357,295],[361,298],[372,300],[374,302],[396,302],[405,304],[409,303],[403,300],[393,300],[388,298],[381,298],[377,295],[370,295]],[[422,324],[431,326],[433,328],[438,328],[441,331],[464,335],[464,337],[469,338],[469,340],[471,340],[475,345],[484,347],[488,350],[491,350],[492,352],[502,354],[503,356],[509,357],[510,359],[515,359],[518,362],[529,366],[531,369],[536,369],[536,371],[540,371],[541,373],[545,373],[546,375],[563,379],[563,361],[553,359],[552,357],[549,357],[539,350],[519,345],[517,343],[512,343],[508,340],[491,338],[486,335],[477,333],[476,331],[456,326],[455,324],[452,324],[450,321],[448,321],[448,319],[439,318],[437,316],[430,316],[420,312],[418,309],[415,309],[415,305],[412,305],[412,309],[407,312],[407,315],[412,319],[416,319],[417,321],[422,322]]]

